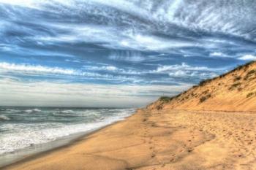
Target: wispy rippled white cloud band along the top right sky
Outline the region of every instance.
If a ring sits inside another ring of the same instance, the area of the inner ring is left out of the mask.
[[[222,5],[224,1],[225,6]],[[111,23],[116,25],[125,23],[128,26],[138,26],[140,30],[151,28],[153,31],[162,30],[175,35],[181,34],[181,36],[183,34],[192,36],[189,33],[205,31],[255,39],[255,32],[252,31],[255,27],[254,1],[247,3],[241,3],[241,0],[224,1],[0,0],[0,3],[53,12],[58,16],[69,13],[69,16],[75,16],[75,20],[84,18],[85,14],[89,13],[90,20],[98,20],[99,23],[104,18],[102,23],[107,23],[108,26]],[[99,18],[94,18],[95,15]],[[172,27],[173,30],[170,29]],[[187,32],[183,32],[184,28]],[[147,42],[148,38],[139,37],[139,42],[140,40]],[[125,40],[122,42],[127,44]]]

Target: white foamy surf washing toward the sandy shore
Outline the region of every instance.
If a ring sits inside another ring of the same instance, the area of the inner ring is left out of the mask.
[[[10,132],[0,136],[0,155],[29,147],[32,144],[53,142],[71,134],[96,130],[104,125],[124,119],[124,117],[131,115],[134,109],[121,109],[116,110],[116,112],[115,116],[98,119],[97,122],[92,123],[72,125],[64,123],[13,123],[1,125],[0,130],[9,129]]]

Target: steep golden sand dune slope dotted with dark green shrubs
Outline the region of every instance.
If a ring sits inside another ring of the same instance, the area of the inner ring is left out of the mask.
[[[160,98],[148,109],[256,111],[256,62],[200,82],[173,98]]]

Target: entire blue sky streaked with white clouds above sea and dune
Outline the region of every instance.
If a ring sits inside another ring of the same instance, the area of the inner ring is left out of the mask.
[[[0,105],[143,107],[256,60],[255,0],[0,0]]]

